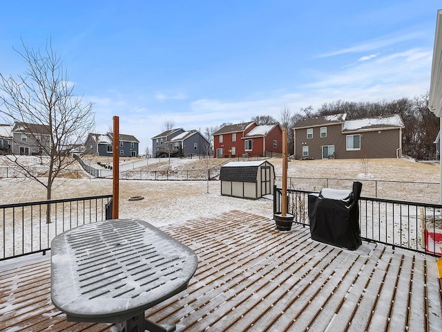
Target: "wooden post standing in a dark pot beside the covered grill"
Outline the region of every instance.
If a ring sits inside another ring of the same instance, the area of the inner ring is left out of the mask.
[[[281,213],[273,214],[276,229],[282,231],[291,230],[294,215],[287,213],[287,127],[282,129],[282,200]],[[276,194],[276,193],[275,193]]]

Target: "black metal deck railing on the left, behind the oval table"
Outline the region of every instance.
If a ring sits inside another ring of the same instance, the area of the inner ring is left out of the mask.
[[[70,228],[106,219],[112,195],[0,205],[0,261],[43,252]]]

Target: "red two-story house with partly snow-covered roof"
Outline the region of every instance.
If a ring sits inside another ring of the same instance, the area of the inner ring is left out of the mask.
[[[282,154],[282,129],[254,121],[231,124],[213,133],[213,151],[217,158]]]

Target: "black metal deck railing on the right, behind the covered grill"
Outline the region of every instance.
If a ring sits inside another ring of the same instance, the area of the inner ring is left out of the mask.
[[[274,188],[273,213],[280,213],[282,190]],[[308,196],[314,192],[287,190],[287,213],[294,222],[309,225]],[[317,194],[317,192],[316,192]],[[440,252],[436,239],[442,235],[442,205],[361,197],[361,238],[428,255]],[[439,254],[440,255],[440,254]]]

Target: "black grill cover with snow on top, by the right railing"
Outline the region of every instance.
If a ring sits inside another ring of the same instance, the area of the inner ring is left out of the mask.
[[[330,195],[323,195],[323,190],[320,194],[309,194],[311,239],[349,250],[361,246],[358,204],[361,190],[362,183],[355,181],[352,192],[340,199],[327,198]]]

